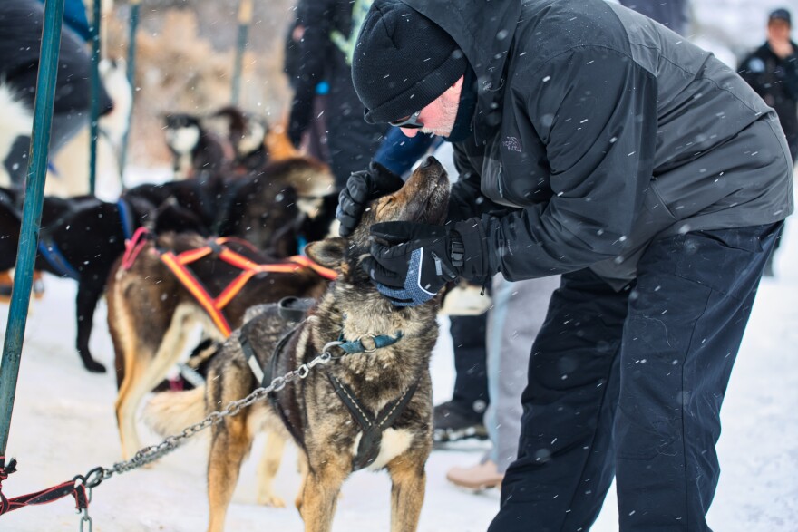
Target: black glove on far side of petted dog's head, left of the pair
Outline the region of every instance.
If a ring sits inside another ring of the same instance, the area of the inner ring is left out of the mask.
[[[402,185],[402,178],[378,162],[369,164],[368,169],[352,172],[346,187],[338,194],[336,218],[341,222],[340,235],[348,237],[355,231],[369,201],[391,194]]]

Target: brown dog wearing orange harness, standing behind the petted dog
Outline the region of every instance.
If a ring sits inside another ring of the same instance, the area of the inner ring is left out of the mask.
[[[200,288],[215,296],[216,306],[222,307],[219,312],[209,311],[205,306],[208,301],[203,305],[190,292],[190,285],[180,281],[184,274],[176,275],[165,262],[167,257],[198,249],[208,252],[185,267]],[[256,273],[233,295],[225,288],[242,280],[239,276],[244,270],[224,260],[227,255],[223,254],[229,251],[253,264],[282,264],[288,271]],[[243,241],[228,240],[223,246],[212,242],[209,246],[205,238],[192,234],[167,234],[154,242],[141,242],[137,255],[128,254],[117,261],[109,276],[107,297],[108,326],[116,353],[116,417],[123,456],[131,458],[141,447],[135,412],[144,395],[178,363],[192,324],[199,323],[206,334],[223,339],[230,328],[242,324],[249,306],[288,295],[319,295],[327,280],[311,267],[262,256]]]

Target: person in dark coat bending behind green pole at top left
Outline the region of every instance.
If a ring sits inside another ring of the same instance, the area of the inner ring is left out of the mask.
[[[69,13],[72,14],[73,10]],[[67,25],[76,16],[71,15],[62,28],[50,140],[51,158],[89,121],[92,97],[89,53],[85,41]],[[15,99],[30,111],[34,109],[43,28],[44,5],[38,0],[0,2],[0,83],[4,83]],[[101,115],[111,111],[113,103],[102,86],[99,98]],[[5,165],[13,184],[18,187],[22,186],[27,172],[30,142],[28,135],[17,137],[7,153],[3,154],[4,160],[0,161]]]

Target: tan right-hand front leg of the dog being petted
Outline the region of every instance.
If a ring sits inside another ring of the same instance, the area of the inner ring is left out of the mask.
[[[415,532],[423,505],[424,459],[402,455],[388,464],[391,488],[391,532]]]

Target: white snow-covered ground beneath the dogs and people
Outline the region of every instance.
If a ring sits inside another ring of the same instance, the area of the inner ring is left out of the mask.
[[[795,532],[798,530],[798,218],[789,220],[777,256],[778,276],[764,279],[725,399],[724,432],[719,444],[723,473],[709,522],[723,532]],[[120,459],[113,415],[115,384],[111,374],[85,372],[73,350],[72,281],[46,277],[44,299],[34,302],[28,319],[17,386],[9,456],[19,470],[5,481],[8,497],[71,479]],[[0,307],[5,328],[7,306]],[[445,323],[443,324],[445,331]],[[92,349],[112,364],[104,303],[95,316]],[[452,391],[451,341],[443,334],[433,356],[435,401]],[[142,427],[143,440],[158,439]],[[205,441],[176,450],[150,469],[108,479],[94,490],[90,515],[94,531],[189,532],[203,530]],[[291,504],[298,488],[294,451],[280,469],[277,489],[288,508],[255,503],[256,441],[243,468],[228,530],[301,530]],[[485,530],[498,506],[494,491],[472,494],[449,485],[445,472],[475,463],[484,447],[475,443],[435,450],[427,464],[428,483],[420,530]],[[334,530],[386,530],[390,484],[384,472],[357,472],[345,483]],[[610,492],[595,532],[617,529]],[[56,532],[76,530],[79,517],[71,499],[22,508],[0,517],[0,530]]]

